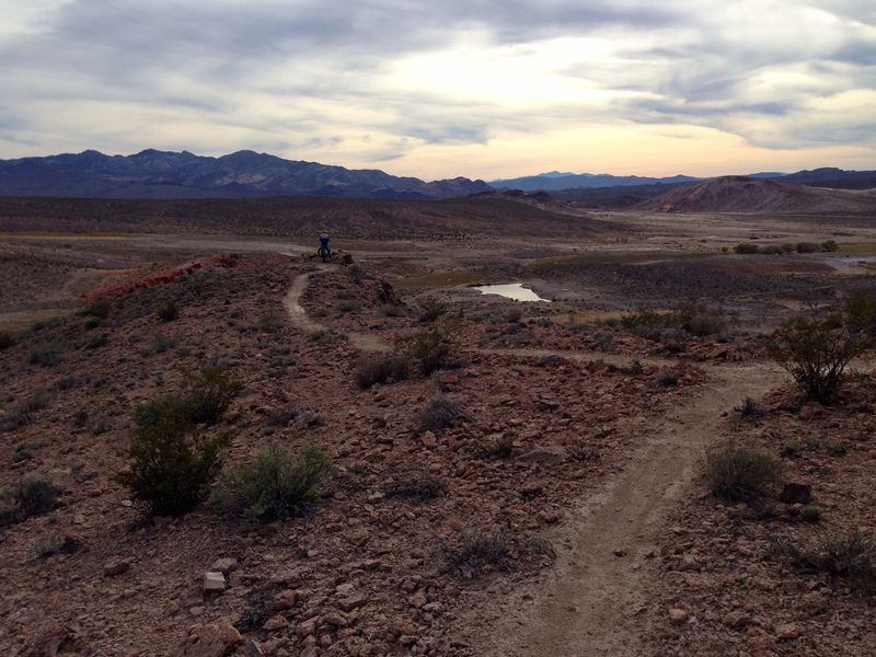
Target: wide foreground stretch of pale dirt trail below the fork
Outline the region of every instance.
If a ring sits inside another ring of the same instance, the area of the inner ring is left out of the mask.
[[[781,370],[766,364],[714,367],[711,373],[717,381],[710,390],[669,414],[623,472],[581,500],[567,523],[568,548],[558,551],[555,573],[509,601],[511,611],[494,636],[484,637],[482,654],[646,653],[637,643],[635,613],[646,581],[656,576],[648,554],[666,516],[688,492],[703,450],[726,425],[722,413],[783,380]]]

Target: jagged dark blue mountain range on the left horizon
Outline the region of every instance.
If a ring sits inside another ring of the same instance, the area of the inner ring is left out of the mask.
[[[85,198],[452,198],[489,192],[464,177],[424,182],[379,170],[350,170],[238,151],[221,158],[145,150],[134,155],[78,154],[0,160],[0,196]]]

